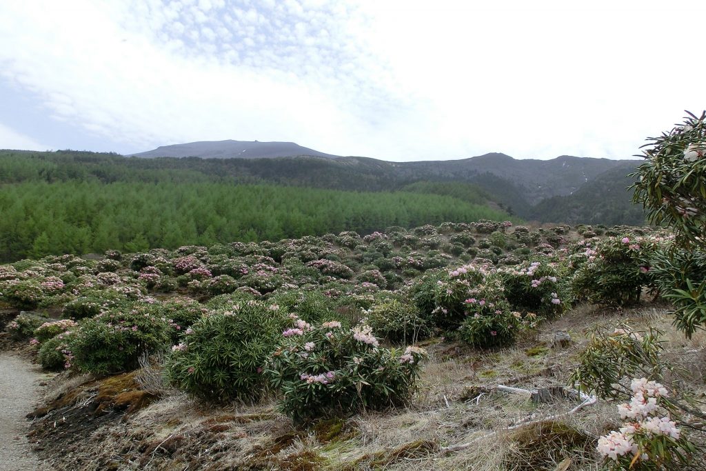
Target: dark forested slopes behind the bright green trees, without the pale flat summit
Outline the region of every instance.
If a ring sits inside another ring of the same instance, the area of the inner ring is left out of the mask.
[[[515,160],[487,154],[465,160],[386,162],[367,157],[122,157],[115,154],[57,151],[0,151],[0,181],[66,181],[96,179],[176,183],[268,183],[344,191],[399,191],[409,185],[433,184],[424,193],[484,195],[509,213],[539,222],[642,224],[640,208],[631,208],[626,175],[638,161],[579,157]],[[613,172],[613,173],[611,173]],[[447,189],[441,186],[450,185]],[[419,192],[419,188],[411,187]],[[464,193],[461,191],[459,194]],[[467,193],[467,194],[470,194]],[[610,198],[606,198],[610,195]],[[600,196],[600,198],[597,198]],[[596,201],[593,201],[595,198]],[[476,203],[472,197],[471,203]],[[597,201],[601,211],[593,211]],[[544,204],[542,201],[545,201]],[[591,205],[585,202],[591,201]],[[573,209],[572,209],[573,208]],[[581,209],[583,208],[583,209]],[[588,211],[588,212],[587,212]],[[563,219],[562,219],[563,218]]]

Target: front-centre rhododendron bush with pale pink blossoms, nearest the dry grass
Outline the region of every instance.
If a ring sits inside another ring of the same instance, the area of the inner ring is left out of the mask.
[[[418,347],[383,348],[369,326],[337,321],[313,326],[292,316],[282,337],[267,373],[295,422],[405,404],[426,356]]]

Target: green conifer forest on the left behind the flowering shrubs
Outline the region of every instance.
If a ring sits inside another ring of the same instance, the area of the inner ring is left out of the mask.
[[[0,259],[508,219],[470,190],[464,197],[460,189],[432,194],[439,191],[428,186],[313,189],[203,170],[222,162],[171,161],[160,166],[160,160],[93,153],[0,153]]]

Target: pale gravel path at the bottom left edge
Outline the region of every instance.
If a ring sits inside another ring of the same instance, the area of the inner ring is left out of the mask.
[[[11,352],[0,352],[0,470],[46,470],[30,449],[25,415],[35,407],[40,369]]]

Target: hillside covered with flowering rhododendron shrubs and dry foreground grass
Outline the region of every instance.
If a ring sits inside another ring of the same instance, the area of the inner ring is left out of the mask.
[[[683,437],[667,469],[705,469],[706,335],[635,296],[669,234],[585,234],[445,222],[2,265],[0,354],[46,385],[25,419],[38,381],[5,382],[6,436],[30,437],[9,448],[52,470],[597,470],[644,374]]]

